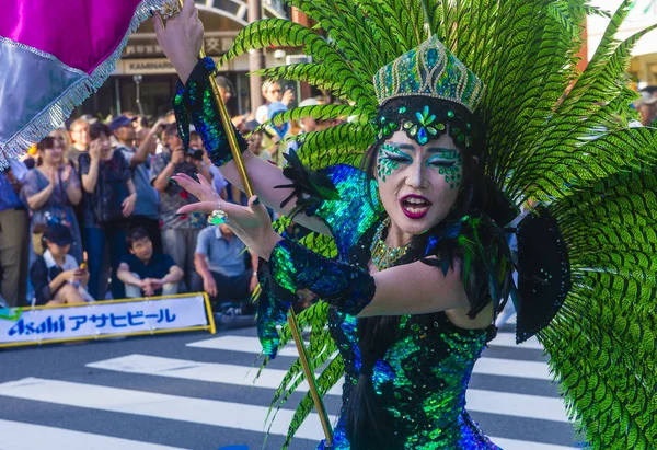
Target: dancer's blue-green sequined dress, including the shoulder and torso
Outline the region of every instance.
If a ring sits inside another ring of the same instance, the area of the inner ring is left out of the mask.
[[[373,209],[378,205],[367,201],[365,174],[348,165],[333,166],[324,173],[335,183],[342,199],[319,201],[307,212],[330,224],[339,259],[367,266],[380,219]],[[458,240],[476,220],[466,217],[427,236],[427,242],[433,243],[426,245],[424,253],[434,254],[439,240]],[[403,262],[416,258],[416,254],[410,255]],[[384,357],[367,361],[359,349],[358,320],[334,307],[328,309],[327,320],[339,351],[336,360],[344,365],[343,404],[359,377],[371,377],[380,405],[392,417],[390,426],[399,438],[391,449],[498,449],[464,409],[472,368],[486,342],[495,335],[493,326],[466,331],[452,325],[445,313],[405,315]],[[351,448],[342,415],[334,429],[333,448]],[[323,443],[319,449],[324,449]]]

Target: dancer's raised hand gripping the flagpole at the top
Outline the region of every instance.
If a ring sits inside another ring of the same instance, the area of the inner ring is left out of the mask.
[[[171,61],[183,83],[187,82],[198,61],[203,45],[203,23],[194,0],[185,0],[182,11],[166,23],[160,14],[153,15],[153,26],[162,51]]]

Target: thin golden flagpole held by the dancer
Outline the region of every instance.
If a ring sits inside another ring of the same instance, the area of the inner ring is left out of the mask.
[[[191,1],[191,0],[186,0]],[[178,4],[181,10],[184,8],[185,0],[178,0]],[[199,58],[205,58],[206,53],[201,47]],[[242,152],[240,151],[240,146],[238,145],[238,140],[232,127],[232,123],[230,116],[228,115],[228,111],[226,109],[226,105],[221,100],[221,95],[219,95],[219,88],[217,86],[217,82],[215,81],[215,76],[209,76],[210,88],[212,90],[212,96],[217,104],[217,109],[219,111],[219,115],[221,117],[221,124],[223,125],[223,129],[226,130],[228,141],[230,143],[230,150],[232,152],[233,161],[238,168],[238,172],[240,174],[240,178],[242,180],[242,185],[244,186],[244,193],[246,196],[252,197],[254,195],[253,186],[246,173],[246,166],[244,164],[244,160],[242,158]],[[299,331],[299,325],[297,323],[297,316],[292,308],[288,311],[287,315],[288,325],[295,338],[295,344],[297,345],[297,350],[299,351],[299,359],[301,361],[301,366],[303,367],[303,373],[306,376],[306,380],[310,386],[310,394],[314,402],[315,408],[320,416],[320,420],[322,423],[322,428],[324,430],[324,435],[326,437],[325,447],[333,447],[333,431],[331,429],[331,424],[328,423],[328,415],[326,414],[326,408],[320,396],[318,391],[318,384],[314,377],[313,368],[310,366],[310,361],[308,359],[308,354],[306,353],[306,346],[303,345],[303,341],[301,338],[301,332]]]

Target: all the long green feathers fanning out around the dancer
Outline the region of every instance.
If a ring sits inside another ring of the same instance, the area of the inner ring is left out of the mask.
[[[349,117],[301,138],[299,158],[312,169],[357,165],[376,135],[376,71],[437,34],[486,85],[479,107],[485,127],[485,174],[515,205],[546,200],[567,249],[570,288],[538,337],[551,356],[572,417],[595,448],[657,448],[654,214],[657,132],[629,129],[630,50],[643,36],[615,34],[631,1],[611,16],[584,72],[577,69],[583,24],[601,13],[583,0],[288,0],[316,24],[278,19],[246,26],[226,59],[252,48],[300,47],[312,62],[264,74],[331,90],[349,106],[293,109],[278,120]],[[326,37],[315,32],[321,28]],[[569,92],[568,92],[569,90]],[[334,253],[325,238],[307,245]],[[333,246],[332,246],[333,245]],[[309,355],[325,393],[339,380],[339,358],[318,303],[299,316],[312,325]],[[281,343],[290,339],[287,328]],[[337,361],[337,362],[336,362]],[[279,407],[303,380],[299,362],[272,404]],[[291,439],[311,408],[303,400]]]

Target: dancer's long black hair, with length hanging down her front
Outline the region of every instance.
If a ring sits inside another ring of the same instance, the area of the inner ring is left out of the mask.
[[[371,146],[364,159],[362,170],[367,173],[367,183],[374,178],[377,157],[384,140]],[[449,215],[428,232],[417,235],[410,244],[408,252],[395,265],[416,262],[425,256],[428,238],[453,224],[463,216],[486,204],[486,191],[481,165],[473,159],[473,151],[457,142],[461,150],[462,182],[459,195]],[[370,192],[370,189],[367,189]],[[373,204],[373,199],[370,199]],[[384,239],[384,236],[383,236]],[[453,242],[446,241],[450,257],[459,257]],[[443,249],[445,250],[445,249]],[[445,253],[445,252],[440,252]],[[439,253],[439,254],[440,254]],[[468,291],[469,289],[466,289]],[[480,289],[475,291],[481,292]],[[477,296],[480,293],[476,293]],[[474,299],[471,299],[471,302]],[[473,302],[474,303],[474,302]],[[354,450],[401,449],[403,442],[395,435],[393,417],[380,404],[374,392],[372,372],[376,362],[383,358],[388,349],[397,341],[401,316],[373,316],[358,320],[358,341],[361,358],[361,371],[345,404],[346,434]]]

